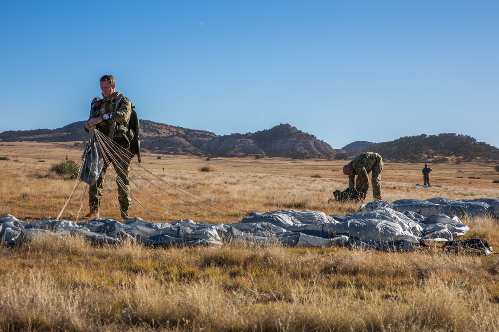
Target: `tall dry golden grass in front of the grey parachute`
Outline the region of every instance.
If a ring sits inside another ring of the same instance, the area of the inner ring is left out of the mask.
[[[494,257],[437,250],[1,246],[0,330],[497,331]]]

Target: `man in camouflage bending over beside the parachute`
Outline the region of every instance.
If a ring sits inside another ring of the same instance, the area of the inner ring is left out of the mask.
[[[366,198],[369,190],[368,174],[372,172],[371,182],[375,201],[381,201],[381,171],[383,159],[376,152],[365,152],[355,157],[348,165],[343,166],[343,173],[348,175],[348,187],[356,189],[361,199]],[[357,179],[355,178],[357,176]]]

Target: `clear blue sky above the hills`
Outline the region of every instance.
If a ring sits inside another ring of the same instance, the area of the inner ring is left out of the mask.
[[[218,135],[499,147],[498,17],[497,0],[1,1],[0,132],[86,120],[111,73],[139,118]]]

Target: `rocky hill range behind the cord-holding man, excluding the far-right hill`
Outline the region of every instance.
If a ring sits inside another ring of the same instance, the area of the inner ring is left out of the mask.
[[[85,121],[57,129],[9,130],[0,141],[86,141]],[[217,136],[205,130],[187,129],[149,120],[140,120],[141,149],[165,154],[192,154],[207,157],[247,155],[287,158],[333,158],[336,150],[315,136],[289,124],[279,124],[255,133]]]

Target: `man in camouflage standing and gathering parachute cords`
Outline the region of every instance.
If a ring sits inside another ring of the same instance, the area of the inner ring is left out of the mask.
[[[90,212],[86,217],[96,216],[99,212],[100,199],[102,198],[102,182],[109,162],[111,162],[116,171],[121,218],[126,220],[129,218],[128,211],[131,206],[128,171],[133,155],[130,152],[129,140],[125,135],[129,129],[128,123],[132,112],[132,103],[119,91],[115,91],[115,86],[116,81],[112,75],[104,75],[100,78],[103,99],[94,98],[91,104],[90,117],[85,124],[86,132],[89,132],[90,128],[95,125],[97,130],[119,145],[119,147],[109,146],[109,150],[105,149],[106,152],[104,153],[107,158],[104,158],[102,173],[96,184],[90,186],[88,190]]]

